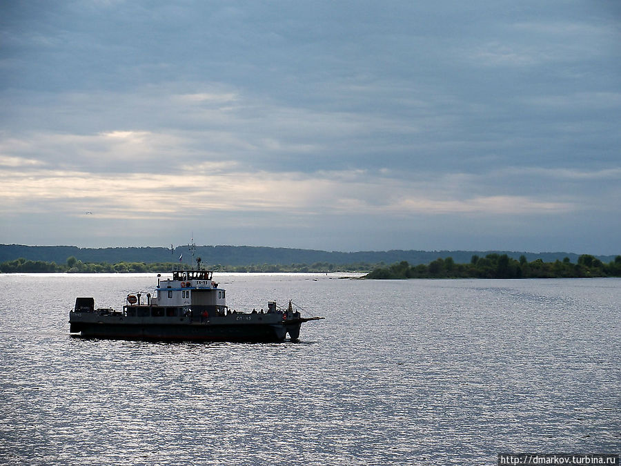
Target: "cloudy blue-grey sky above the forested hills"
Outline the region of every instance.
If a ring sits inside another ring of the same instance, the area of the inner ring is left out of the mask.
[[[621,253],[621,3],[0,3],[0,243]]]

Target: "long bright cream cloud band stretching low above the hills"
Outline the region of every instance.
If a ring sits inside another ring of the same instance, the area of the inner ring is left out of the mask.
[[[461,181],[459,181],[461,179]],[[417,214],[515,215],[559,213],[571,202],[524,195],[477,195],[481,179],[469,175],[406,181],[368,171],[248,173],[237,165],[185,166],[171,174],[28,171],[0,178],[2,210],[41,213],[57,206],[66,215],[186,217],[214,211],[270,211],[284,215],[346,214],[377,218]],[[471,194],[467,194],[471,191]],[[460,193],[461,198],[455,197]]]

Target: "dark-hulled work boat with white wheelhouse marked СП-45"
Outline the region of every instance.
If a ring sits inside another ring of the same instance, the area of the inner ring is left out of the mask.
[[[69,312],[70,333],[128,340],[282,342],[287,335],[298,340],[304,322],[323,319],[302,317],[291,301],[286,308],[268,301],[265,310],[232,311],[213,271],[198,264],[170,273],[166,279],[157,274],[153,293],[128,294],[122,311],[95,308],[94,298],[76,298]]]

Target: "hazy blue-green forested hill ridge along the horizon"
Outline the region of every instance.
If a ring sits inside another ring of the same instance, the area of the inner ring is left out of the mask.
[[[263,246],[197,246],[195,257],[201,258],[206,266],[217,264],[243,266],[253,264],[393,264],[407,261],[409,264],[429,264],[437,258],[453,258],[455,262],[470,262],[473,255],[485,256],[490,253],[506,254],[519,259],[524,255],[529,262],[541,259],[554,262],[569,258],[578,261],[575,253],[528,253],[523,251],[358,251],[344,253],[339,251],[316,251],[313,249],[269,248]],[[23,246],[21,244],[0,244],[0,262],[24,258],[65,264],[74,257],[82,262],[177,262],[184,255],[184,262],[190,262],[188,246],[177,246],[173,251],[161,247],[126,248],[78,248],[76,246]],[[602,262],[614,260],[613,255],[597,255]]]

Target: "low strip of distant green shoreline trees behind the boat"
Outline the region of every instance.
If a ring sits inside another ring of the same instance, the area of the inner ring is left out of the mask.
[[[139,272],[167,272],[179,266],[177,262],[82,262],[71,256],[65,264],[44,262],[42,260],[26,260],[19,258],[0,263],[0,272],[3,273],[139,273]],[[377,266],[377,264],[375,265]],[[216,264],[209,267],[215,272],[341,272],[341,271],[369,271],[374,265],[359,262],[358,264],[331,264],[315,262],[314,264],[255,264],[243,266],[224,266]]]

